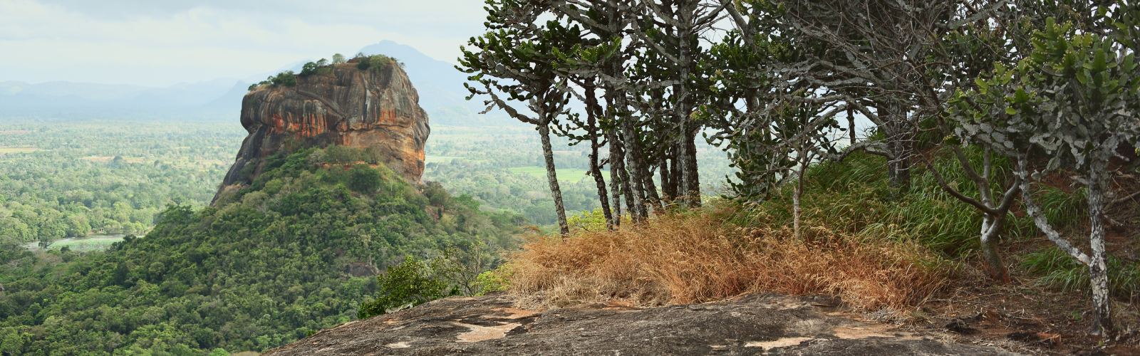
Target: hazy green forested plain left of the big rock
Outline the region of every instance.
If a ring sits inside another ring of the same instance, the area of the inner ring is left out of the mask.
[[[203,207],[234,160],[239,126],[85,121],[0,124],[0,240],[142,234],[168,203]],[[114,160],[113,157],[119,157]]]

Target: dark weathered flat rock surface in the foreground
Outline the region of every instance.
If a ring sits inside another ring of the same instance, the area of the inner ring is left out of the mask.
[[[521,310],[504,294],[448,298],[342,324],[264,355],[1015,355],[893,332],[830,297],[754,294],[640,309]]]

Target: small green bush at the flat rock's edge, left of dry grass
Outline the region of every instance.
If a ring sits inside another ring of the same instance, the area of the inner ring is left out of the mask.
[[[361,305],[357,318],[368,318],[458,294],[458,289],[438,276],[442,265],[440,257],[425,264],[408,256],[404,264],[389,266],[386,274],[376,277],[380,296]]]

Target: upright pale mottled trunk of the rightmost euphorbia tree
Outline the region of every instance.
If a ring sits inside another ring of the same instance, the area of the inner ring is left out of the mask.
[[[1094,162],[1089,169],[1089,222],[1092,232],[1089,243],[1089,277],[1092,282],[1092,330],[1090,333],[1108,337],[1113,333],[1112,299],[1108,290],[1108,264],[1105,253],[1105,191],[1108,183],[1107,164]]]

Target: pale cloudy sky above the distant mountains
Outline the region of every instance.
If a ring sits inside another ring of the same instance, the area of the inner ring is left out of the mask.
[[[168,87],[392,40],[455,62],[479,0],[0,0],[0,82]]]

